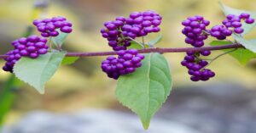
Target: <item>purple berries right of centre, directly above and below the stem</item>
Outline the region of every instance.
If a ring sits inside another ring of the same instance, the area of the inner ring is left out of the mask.
[[[182,25],[184,26],[182,32],[186,36],[185,42],[193,47],[203,47],[208,37],[207,26],[210,25],[210,21],[201,15],[195,15],[183,20]],[[210,54],[210,51],[187,53],[181,64],[189,69],[190,80],[209,80],[215,75],[210,69],[205,69],[208,62],[200,58],[201,55],[209,56]]]

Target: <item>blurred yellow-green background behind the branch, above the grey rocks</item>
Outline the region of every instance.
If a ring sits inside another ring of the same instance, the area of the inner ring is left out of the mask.
[[[32,25],[34,0],[0,0],[0,53],[8,52],[10,42],[21,37],[28,25]],[[255,10],[255,0],[222,0],[233,8]],[[69,52],[110,51],[107,41],[99,30],[105,21],[116,16],[128,16],[133,11],[153,9],[163,16],[161,33],[164,37],[158,47],[189,47],[181,34],[183,19],[201,14],[217,25],[224,14],[218,0],[52,0],[49,8],[40,14],[44,17],[65,16],[73,22],[73,33],[68,36],[64,49]],[[38,34],[34,31],[33,34]],[[148,36],[154,38],[158,34]],[[247,37],[255,38],[256,30]],[[211,42],[208,40],[207,42]],[[221,51],[212,53],[217,56]],[[208,84],[236,83],[249,89],[256,88],[256,62],[241,66],[236,59],[226,55],[215,61],[210,69],[217,76],[207,82],[192,82],[187,70],[180,65],[184,53],[166,53],[172,69],[174,89],[177,87],[207,86]],[[25,85],[13,91],[15,102],[5,124],[19,119],[22,114],[36,109],[69,113],[80,108],[122,108],[114,97],[116,80],[108,79],[100,68],[104,57],[80,58],[75,64],[61,66],[47,83],[45,95]],[[3,66],[3,60],[0,65]],[[10,74],[0,70],[0,88]],[[207,89],[207,87],[206,87]],[[0,89],[1,90],[1,89]]]

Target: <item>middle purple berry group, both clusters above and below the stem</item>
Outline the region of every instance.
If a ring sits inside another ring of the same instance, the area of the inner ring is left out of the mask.
[[[154,11],[133,12],[128,18],[117,17],[104,23],[102,36],[108,39],[108,46],[119,55],[118,58],[109,56],[102,61],[102,71],[108,77],[117,80],[119,75],[127,75],[142,66],[144,55],[136,49],[126,50],[131,41],[137,37],[147,36],[160,31],[162,17]]]

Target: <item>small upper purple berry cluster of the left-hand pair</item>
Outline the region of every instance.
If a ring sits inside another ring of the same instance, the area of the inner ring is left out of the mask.
[[[59,32],[71,33],[72,32],[72,23],[67,21],[64,17],[53,17],[51,19],[36,19],[33,21],[33,25],[38,27],[38,31],[41,32],[41,36],[58,36]]]

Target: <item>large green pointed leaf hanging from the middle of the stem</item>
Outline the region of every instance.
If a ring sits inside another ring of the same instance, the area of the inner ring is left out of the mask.
[[[172,78],[166,58],[160,53],[145,54],[143,66],[130,75],[119,77],[116,97],[131,108],[148,129],[150,119],[172,90]]]

